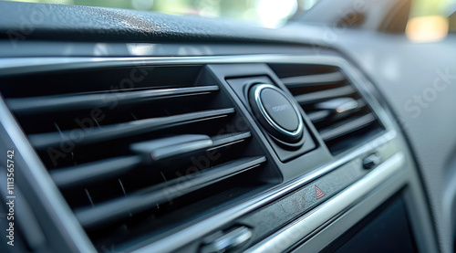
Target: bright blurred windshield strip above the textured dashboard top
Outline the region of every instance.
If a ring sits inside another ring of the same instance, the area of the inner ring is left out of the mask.
[[[256,26],[279,27],[319,0],[19,0],[61,5],[92,5],[154,11],[174,15],[240,19]]]

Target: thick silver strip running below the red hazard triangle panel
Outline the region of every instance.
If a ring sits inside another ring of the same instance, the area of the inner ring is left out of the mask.
[[[316,207],[310,213],[300,217],[294,223],[275,232],[270,237],[249,248],[248,253],[260,252],[284,252],[295,245],[302,238],[312,233],[316,228],[322,226],[327,220],[337,216],[349,206],[357,202],[364,195],[374,190],[390,177],[398,174],[403,169],[405,155],[394,154],[389,160],[380,164],[372,172],[361,178],[357,183],[327,200],[321,206]]]

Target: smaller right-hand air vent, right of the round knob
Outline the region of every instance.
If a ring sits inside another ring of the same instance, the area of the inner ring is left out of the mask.
[[[331,153],[347,151],[384,131],[341,69],[306,64],[270,67],[306,111]]]

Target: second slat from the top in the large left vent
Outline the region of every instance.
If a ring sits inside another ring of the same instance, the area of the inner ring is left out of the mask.
[[[70,134],[72,131],[36,133],[28,135],[28,138],[38,150],[45,149],[49,146],[57,146],[61,142],[88,144],[114,140],[145,132],[153,132],[166,127],[191,123],[194,121],[206,121],[213,118],[225,117],[232,113],[234,113],[234,109],[227,108],[112,124],[102,126],[101,128],[86,130],[82,140],[81,136],[74,136],[74,134]]]

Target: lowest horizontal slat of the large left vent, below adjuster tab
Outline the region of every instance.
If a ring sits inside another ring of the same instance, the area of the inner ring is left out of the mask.
[[[151,186],[138,193],[126,195],[104,204],[77,209],[75,214],[83,227],[106,224],[128,216],[130,213],[140,212],[181,195],[187,195],[209,184],[214,184],[234,174],[254,168],[265,161],[264,156],[238,159],[199,173],[190,174],[187,178],[176,178],[166,183]]]

